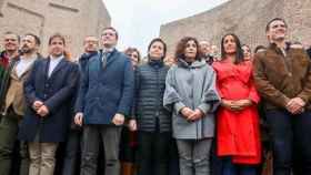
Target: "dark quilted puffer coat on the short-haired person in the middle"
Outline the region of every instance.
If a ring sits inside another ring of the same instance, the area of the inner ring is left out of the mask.
[[[169,66],[150,61],[136,70],[136,97],[133,116],[138,130],[144,132],[170,132],[171,115],[163,107],[165,78]]]

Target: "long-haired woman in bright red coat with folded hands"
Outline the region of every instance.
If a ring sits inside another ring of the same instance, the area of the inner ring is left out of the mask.
[[[217,116],[217,150],[222,158],[222,175],[255,175],[261,162],[260,100],[252,81],[252,64],[244,61],[235,34],[221,40],[222,60],[213,63],[217,87],[222,99]]]

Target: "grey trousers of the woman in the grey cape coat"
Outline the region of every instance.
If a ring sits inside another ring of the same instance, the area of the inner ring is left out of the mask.
[[[210,175],[212,140],[177,140],[180,175]]]

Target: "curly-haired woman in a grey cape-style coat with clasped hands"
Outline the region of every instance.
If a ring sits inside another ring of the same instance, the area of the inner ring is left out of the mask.
[[[214,111],[220,97],[215,73],[201,60],[195,38],[177,45],[177,65],[167,75],[163,105],[173,113],[181,175],[209,175],[209,153],[214,136]]]

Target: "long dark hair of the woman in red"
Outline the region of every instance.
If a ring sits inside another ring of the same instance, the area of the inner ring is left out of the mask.
[[[235,42],[235,45],[237,45],[234,64],[239,64],[239,63],[244,61],[244,54],[243,54],[243,50],[242,50],[242,47],[241,47],[240,39],[234,33],[228,33],[228,34],[222,37],[222,39],[221,39],[221,59],[225,59],[225,56],[227,56],[227,53],[224,51],[224,39],[228,35],[232,35],[233,39],[234,39],[234,42]]]

